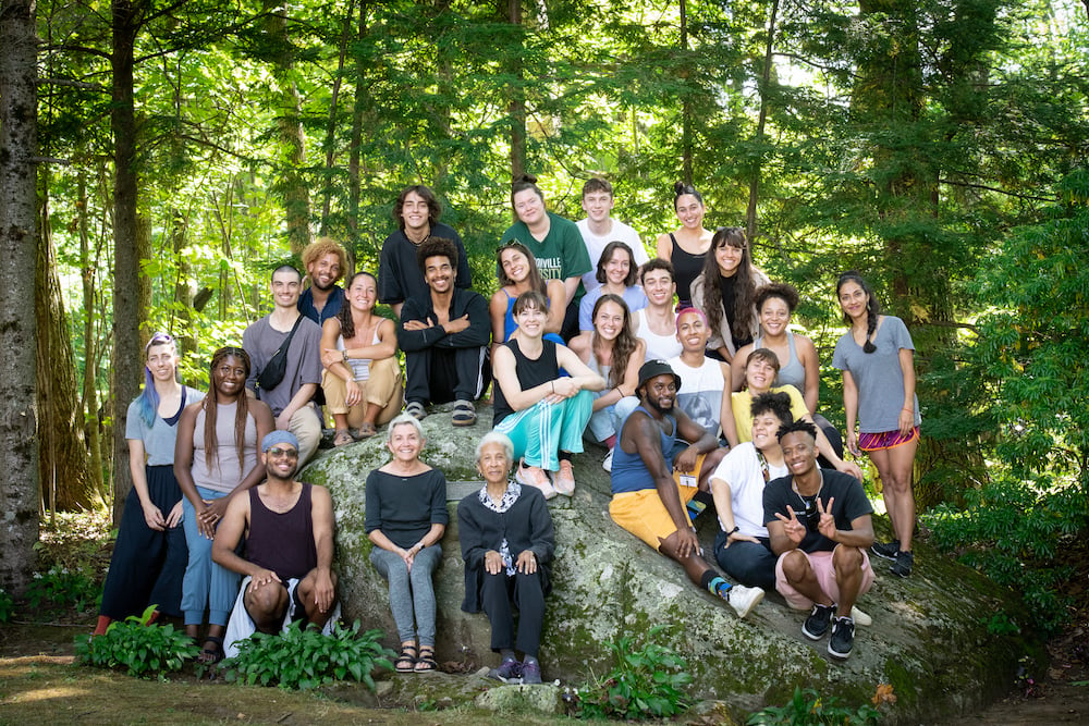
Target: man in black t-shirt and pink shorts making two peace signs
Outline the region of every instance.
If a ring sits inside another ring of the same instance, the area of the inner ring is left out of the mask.
[[[873,543],[873,508],[854,477],[817,466],[817,431],[808,421],[779,429],[790,475],[763,491],[763,518],[779,555],[775,589],[795,610],[811,607],[802,633],[845,659],[855,642],[851,608],[873,583],[866,550]]]

